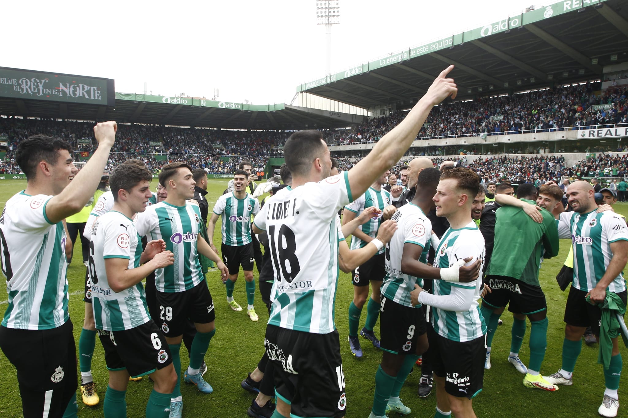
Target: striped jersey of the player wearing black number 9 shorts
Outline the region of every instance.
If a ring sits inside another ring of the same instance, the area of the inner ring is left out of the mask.
[[[399,303],[412,307],[410,292],[414,285],[423,286],[423,279],[401,273],[401,256],[404,244],[416,244],[423,248],[421,263],[427,263],[430,253],[431,222],[412,202],[401,206],[393,215],[398,229],[391,241],[386,244],[386,277],[382,284],[382,294]],[[417,305],[420,307],[421,305]]]

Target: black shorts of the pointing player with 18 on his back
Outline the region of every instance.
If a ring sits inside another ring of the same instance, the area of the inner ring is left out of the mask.
[[[291,417],[347,413],[338,330],[315,334],[268,325],[264,344],[274,365],[276,394],[291,405]]]

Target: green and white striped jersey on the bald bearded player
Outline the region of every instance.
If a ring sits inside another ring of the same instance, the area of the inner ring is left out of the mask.
[[[597,208],[596,208],[597,210]],[[563,212],[558,218],[558,238],[570,238],[573,247],[573,287],[591,291],[606,273],[613,252],[610,243],[628,241],[628,228],[614,212]],[[625,290],[624,273],[610,282],[608,291]]]

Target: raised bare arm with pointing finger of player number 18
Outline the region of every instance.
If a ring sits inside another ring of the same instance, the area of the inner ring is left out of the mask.
[[[453,78],[446,78],[453,65],[443,70],[432,83],[425,96],[414,105],[404,120],[386,133],[371,152],[349,170],[352,196],[360,196],[384,172],[393,167],[408,150],[421,130],[431,108],[447,97],[455,98],[458,88]]]

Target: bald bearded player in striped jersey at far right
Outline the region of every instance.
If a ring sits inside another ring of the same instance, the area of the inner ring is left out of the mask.
[[[617,416],[619,408],[619,377],[622,357],[617,337],[604,335],[600,325],[604,301],[625,306],[627,291],[622,271],[628,261],[628,228],[615,212],[597,213],[595,191],[585,181],[576,181],[567,189],[567,201],[573,212],[563,212],[558,219],[559,238],[571,238],[573,249],[573,282],[565,307],[565,340],[560,370],[546,379],[555,385],[573,384],[573,369],[582,348],[582,335],[587,327],[600,341],[604,362],[604,398],[598,408],[603,417]],[[590,296],[590,302],[587,302]],[[593,303],[593,305],[592,305]],[[612,350],[610,348],[612,344]],[[610,353],[609,353],[610,351]]]

